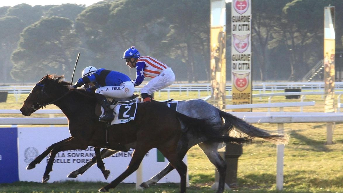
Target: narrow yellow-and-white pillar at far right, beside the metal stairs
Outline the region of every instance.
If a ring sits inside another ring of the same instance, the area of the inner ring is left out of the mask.
[[[334,112],[335,7],[324,7],[324,112]]]

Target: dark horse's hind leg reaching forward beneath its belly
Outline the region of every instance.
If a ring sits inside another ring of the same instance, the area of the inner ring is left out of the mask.
[[[132,154],[132,158],[131,158],[131,161],[130,161],[129,166],[127,167],[127,169],[122,174],[120,174],[115,180],[113,180],[111,183],[109,183],[106,186],[100,188],[99,192],[108,192],[109,189],[115,188],[121,181],[123,181],[131,173],[136,171],[139,168],[139,164],[142,162],[145,154],[150,149],[151,148],[143,147],[143,145],[140,145],[139,147],[137,147],[134,150],[133,154]]]

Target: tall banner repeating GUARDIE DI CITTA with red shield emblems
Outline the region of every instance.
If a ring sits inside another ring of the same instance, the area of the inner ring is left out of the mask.
[[[251,0],[233,0],[231,14],[232,104],[251,104]]]

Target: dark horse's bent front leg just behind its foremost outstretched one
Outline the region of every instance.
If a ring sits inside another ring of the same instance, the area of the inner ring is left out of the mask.
[[[48,160],[48,163],[45,168],[45,172],[43,175],[42,182],[47,182],[50,179],[49,173],[52,171],[52,164],[54,164],[54,159],[56,157],[56,154],[60,151],[66,151],[66,150],[74,150],[74,149],[86,149],[88,146],[86,143],[82,143],[84,141],[78,139],[78,138],[68,138],[69,140],[63,140],[62,143],[58,143],[51,149],[51,154]]]

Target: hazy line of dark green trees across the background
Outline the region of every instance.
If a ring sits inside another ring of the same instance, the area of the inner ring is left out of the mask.
[[[301,80],[323,58],[323,9],[329,5],[336,9],[336,50],[343,50],[343,1],[252,0],[252,79]],[[226,12],[230,80],[231,3]],[[95,66],[134,79],[134,70],[121,59],[132,45],[170,66],[176,81],[208,81],[210,0],[0,7],[0,43],[2,83],[37,82],[47,73],[70,80],[79,52],[76,77],[84,67]]]

